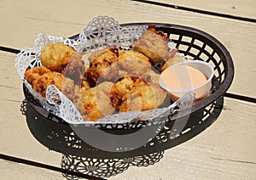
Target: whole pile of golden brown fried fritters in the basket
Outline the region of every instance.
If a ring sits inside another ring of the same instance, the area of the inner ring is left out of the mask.
[[[26,81],[45,97],[50,84],[73,101],[84,121],[96,121],[118,112],[158,108],[167,93],[159,86],[152,63],[170,59],[170,39],[149,25],[132,50],[116,46],[94,53],[77,53],[62,42],[49,43],[41,53],[43,66],[28,68]]]

